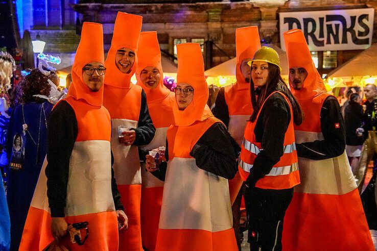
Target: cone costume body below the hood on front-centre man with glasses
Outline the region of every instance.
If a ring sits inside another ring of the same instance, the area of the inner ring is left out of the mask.
[[[214,116],[168,130],[169,162],[156,250],[238,250],[228,181],[196,166],[191,149]]]

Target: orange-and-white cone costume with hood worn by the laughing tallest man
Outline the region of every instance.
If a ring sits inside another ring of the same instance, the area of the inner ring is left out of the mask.
[[[140,230],[140,199],[142,176],[136,145],[119,142],[118,127],[137,128],[142,104],[142,87],[133,85],[131,77],[136,71],[137,43],[142,29],[142,16],[118,12],[111,47],[105,61],[104,106],[112,122],[111,149],[114,172],[122,204],[128,217],[128,230],[120,233],[120,250],[143,250]],[[135,61],[129,73],[122,73],[115,65],[119,49],[129,48]]]

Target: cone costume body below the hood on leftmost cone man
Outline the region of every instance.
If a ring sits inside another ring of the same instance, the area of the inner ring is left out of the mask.
[[[110,115],[103,106],[93,107],[72,96],[65,101],[74,109],[78,125],[69,160],[65,220],[68,224],[87,221],[90,235],[82,246],[69,238],[63,245],[69,250],[115,251],[118,229],[111,193]],[[46,164],[39,175],[19,250],[42,250],[53,241]]]

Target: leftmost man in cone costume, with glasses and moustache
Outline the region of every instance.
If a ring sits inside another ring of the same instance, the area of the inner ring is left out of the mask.
[[[20,250],[42,250],[54,239],[69,250],[118,249],[118,221],[124,230],[127,216],[111,168],[111,120],[102,105],[105,71],[102,24],[84,22],[73,83],[50,115],[47,166],[39,175]],[[67,233],[80,222],[87,222],[90,232],[86,240],[80,232],[83,245]]]

